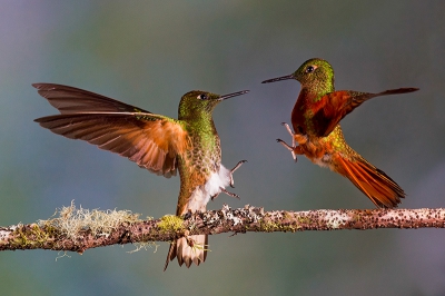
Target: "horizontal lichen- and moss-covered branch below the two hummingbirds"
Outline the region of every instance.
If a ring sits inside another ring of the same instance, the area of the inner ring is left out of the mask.
[[[36,224],[0,227],[0,250],[86,249],[129,243],[171,241],[188,235],[273,233],[374,228],[445,228],[445,209],[339,209],[264,211],[245,206],[197,213],[189,217],[164,216],[139,219],[128,210],[88,210],[73,205],[59,217]]]

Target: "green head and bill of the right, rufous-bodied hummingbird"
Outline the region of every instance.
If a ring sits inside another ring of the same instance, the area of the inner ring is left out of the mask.
[[[261,83],[287,79],[295,79],[301,83],[301,88],[315,90],[317,92],[329,92],[334,90],[334,69],[329,62],[318,58],[305,61],[291,75],[268,79]]]

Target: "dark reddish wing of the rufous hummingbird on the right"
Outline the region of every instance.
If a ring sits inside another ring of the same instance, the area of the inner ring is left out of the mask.
[[[314,127],[317,136],[328,136],[338,122],[355,108],[368,99],[417,91],[418,88],[389,89],[378,93],[359,92],[353,90],[338,90],[326,93],[314,106]],[[318,108],[317,108],[318,107]]]

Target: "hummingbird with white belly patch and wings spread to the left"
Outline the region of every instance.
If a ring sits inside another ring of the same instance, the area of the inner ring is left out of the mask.
[[[225,96],[192,90],[182,96],[178,119],[157,115],[87,90],[55,83],[33,83],[40,96],[60,115],[34,121],[55,134],[86,140],[101,149],[119,154],[159,176],[170,178],[179,171],[180,189],[176,215],[205,211],[210,199],[234,187],[233,169],[221,164],[221,147],[212,111],[243,90]],[[207,235],[181,237],[170,244],[164,270],[170,260],[179,266],[206,260]]]

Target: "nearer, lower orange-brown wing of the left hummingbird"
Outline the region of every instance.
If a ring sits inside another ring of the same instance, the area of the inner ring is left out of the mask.
[[[119,154],[167,178],[176,175],[177,155],[190,146],[180,124],[151,114],[75,114],[34,121],[55,134]]]

